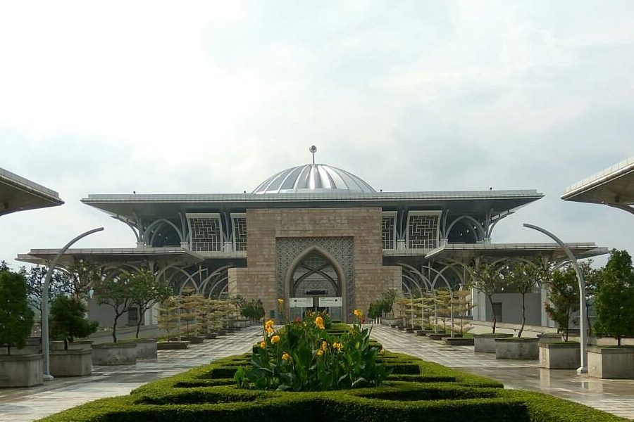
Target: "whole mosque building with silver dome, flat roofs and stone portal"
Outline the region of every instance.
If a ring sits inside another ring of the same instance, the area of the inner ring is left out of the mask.
[[[387,288],[400,295],[466,288],[468,266],[509,257],[566,260],[555,243],[494,243],[505,217],[544,195],[512,191],[375,191],[361,177],[313,162],[277,172],[251,193],[92,194],[82,203],[130,228],[133,248],[70,249],[61,265],[92,262],[104,274],[148,268],[173,286],[209,297],[260,299],[275,317],[278,298],[291,316],[327,309],[352,321]],[[568,246],[578,257],[606,252]],[[18,260],[49,262],[57,250],[32,249]],[[528,295],[529,325],[552,326],[546,290]],[[473,292],[473,319],[521,319],[508,291],[494,306]],[[147,313],[146,324],[156,314]],[[129,314],[130,323],[134,316]],[[109,319],[104,319],[104,324]]]

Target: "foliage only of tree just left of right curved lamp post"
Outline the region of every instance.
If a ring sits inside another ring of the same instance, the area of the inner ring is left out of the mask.
[[[548,283],[549,302],[544,304],[549,318],[557,322],[559,330],[564,332],[564,340],[568,341],[568,325],[570,316],[579,309],[579,288],[577,274],[568,266],[553,271]]]

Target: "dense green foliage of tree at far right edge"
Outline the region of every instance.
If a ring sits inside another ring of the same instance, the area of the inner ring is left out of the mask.
[[[597,284],[596,331],[616,338],[634,335],[634,268],[626,250],[613,249]]]

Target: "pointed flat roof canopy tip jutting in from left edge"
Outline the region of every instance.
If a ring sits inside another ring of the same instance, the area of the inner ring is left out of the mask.
[[[0,215],[63,203],[56,191],[0,168]]]

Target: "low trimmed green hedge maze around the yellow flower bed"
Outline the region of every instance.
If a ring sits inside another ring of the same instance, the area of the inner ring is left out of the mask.
[[[613,422],[611,414],[538,392],[424,362],[382,357],[394,372],[380,388],[328,392],[240,390],[232,379],[250,354],[220,359],[143,385],[129,396],[100,399],[41,422]]]

